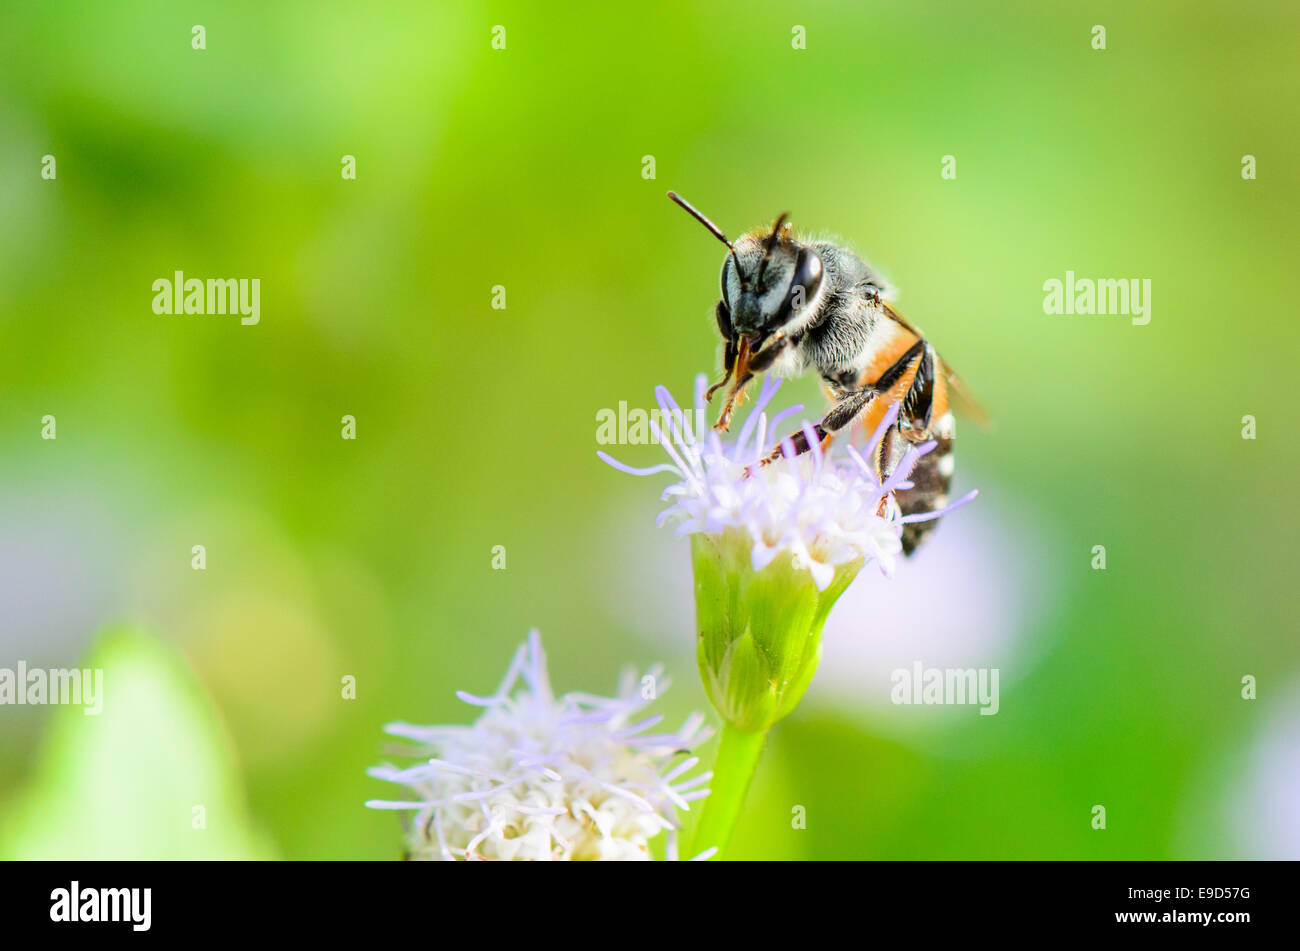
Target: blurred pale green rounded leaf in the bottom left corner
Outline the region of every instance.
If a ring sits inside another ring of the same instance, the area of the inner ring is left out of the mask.
[[[32,782],[0,824],[0,857],[272,857],[250,828],[230,742],[172,648],[114,631],[84,668],[103,670],[101,711],[53,707]]]

